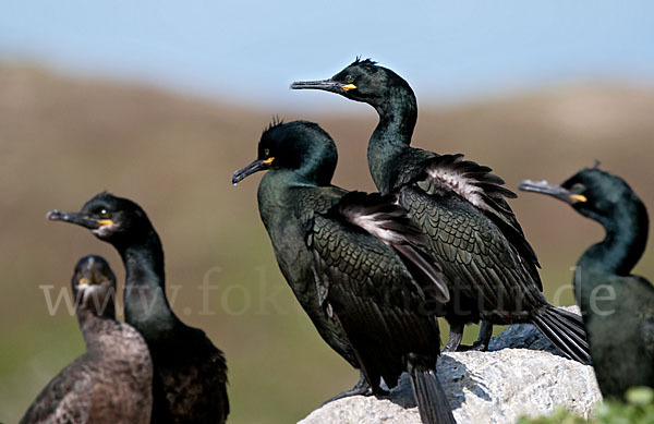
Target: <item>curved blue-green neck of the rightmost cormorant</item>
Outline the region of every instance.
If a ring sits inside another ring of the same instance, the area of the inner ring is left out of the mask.
[[[622,204],[611,217],[592,217],[606,230],[605,239],[591,246],[580,265],[592,266],[618,276],[628,276],[645,251],[649,218],[640,199]]]

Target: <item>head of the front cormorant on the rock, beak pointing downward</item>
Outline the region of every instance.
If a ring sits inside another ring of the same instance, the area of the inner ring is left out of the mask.
[[[232,184],[264,170],[291,170],[307,182],[327,185],[338,154],[334,140],[318,124],[308,121],[272,122],[262,134],[257,158],[232,175]]]

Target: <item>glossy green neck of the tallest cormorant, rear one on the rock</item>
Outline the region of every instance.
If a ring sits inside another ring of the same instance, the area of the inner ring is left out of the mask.
[[[377,190],[390,190],[390,165],[411,144],[417,121],[417,105],[409,85],[395,86],[384,101],[375,106],[379,123],[368,142],[367,160]]]

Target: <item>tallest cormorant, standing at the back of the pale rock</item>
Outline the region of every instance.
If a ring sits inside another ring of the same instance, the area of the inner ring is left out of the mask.
[[[411,147],[417,119],[409,84],[371,60],[356,60],[329,80],[296,82],[294,89],[322,89],[375,108],[379,123],[367,160],[382,194],[393,194],[429,235],[429,254],[447,277],[452,301],[446,319],[457,350],[463,326],[484,320],[475,348],[486,350],[492,325],[533,323],[569,358],[588,362],[581,317],[547,303],[538,262],[506,198],[516,195],[491,168],[463,155]]]

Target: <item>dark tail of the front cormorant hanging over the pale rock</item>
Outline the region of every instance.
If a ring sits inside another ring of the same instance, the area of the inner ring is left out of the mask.
[[[436,371],[414,364],[409,364],[409,367],[421,421],[424,424],[456,424]]]

